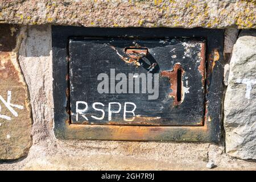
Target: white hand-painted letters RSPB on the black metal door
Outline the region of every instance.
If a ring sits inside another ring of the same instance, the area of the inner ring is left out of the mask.
[[[91,115],[90,117],[92,117],[94,119],[97,119],[97,120],[102,120],[105,117],[105,111],[103,109],[97,108],[96,107],[97,105],[101,105],[102,107],[104,107],[105,105],[102,104],[101,102],[94,102],[92,104],[92,108],[96,111],[101,111],[102,114],[100,116],[99,115],[98,116]],[[118,109],[113,110],[114,105],[118,106]],[[132,110],[127,110],[127,105],[132,105],[133,109]],[[134,120],[134,118],[135,118],[134,111],[135,111],[136,107],[137,106],[133,102],[125,102],[125,105],[123,106],[123,120],[124,121],[133,121]],[[76,121],[79,120],[79,115],[81,115],[81,117],[86,119],[86,121],[89,121],[89,119],[85,116],[86,111],[88,111],[88,109],[89,109],[89,107],[88,107],[87,102],[77,101],[76,102]],[[108,121],[112,121],[112,114],[113,113],[120,113],[121,109],[122,109],[122,105],[119,102],[109,102],[109,105],[108,105]],[[130,118],[130,119],[126,118],[126,113],[132,113],[133,117]]]

